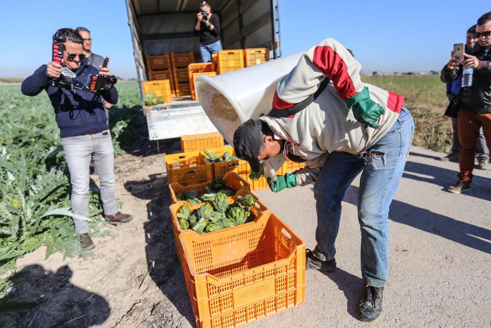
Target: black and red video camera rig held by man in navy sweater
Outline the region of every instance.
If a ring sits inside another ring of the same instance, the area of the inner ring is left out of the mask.
[[[53,35],[53,61],[61,65],[63,59],[63,51],[65,50],[64,42],[66,38],[64,35],[56,31]],[[102,67],[108,67],[109,57],[104,59]],[[89,74],[85,85],[77,86],[75,82],[75,73],[67,67],[61,68],[61,75],[58,79],[52,79],[51,85],[53,87],[63,87],[70,89],[71,92],[77,93],[77,90],[88,90],[94,93],[100,93],[101,91],[111,89],[117,82],[114,75],[91,75]]]

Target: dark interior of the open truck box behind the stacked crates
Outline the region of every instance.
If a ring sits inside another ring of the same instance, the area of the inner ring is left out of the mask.
[[[195,61],[201,61],[199,37],[194,34],[198,3],[197,0],[126,0],[139,82],[148,81],[145,55],[193,50]],[[271,59],[281,56],[278,0],[209,0],[208,3],[220,19],[223,49],[268,48]],[[188,102],[191,98],[173,100]]]

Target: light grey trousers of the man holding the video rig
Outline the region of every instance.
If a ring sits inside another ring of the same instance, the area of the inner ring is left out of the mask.
[[[101,183],[104,214],[116,214],[118,209],[114,199],[114,149],[112,148],[109,130],[96,134],[62,138],[61,141],[70,170],[70,182],[72,183],[70,200],[73,212],[84,216],[89,215],[89,165],[93,156]],[[77,233],[89,232],[86,221],[74,221]]]

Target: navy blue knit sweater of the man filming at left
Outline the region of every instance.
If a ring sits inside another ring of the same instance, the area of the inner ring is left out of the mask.
[[[84,59],[80,67],[75,71],[77,77],[74,85],[78,87],[87,84],[89,75],[97,75],[99,69],[87,64]],[[101,94],[95,94],[88,90],[76,90],[72,93],[63,87],[53,87],[50,77],[46,72],[47,65],[39,67],[34,74],[22,82],[22,93],[27,96],[38,95],[46,90],[51,104],[55,109],[56,123],[60,128],[60,137],[74,137],[89,133],[101,132],[109,129],[108,118],[104,110],[104,100],[111,104],[118,102],[116,88],[109,89]]]

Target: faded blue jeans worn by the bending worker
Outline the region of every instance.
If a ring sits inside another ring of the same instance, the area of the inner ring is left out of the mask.
[[[371,149],[353,155],[332,152],[314,185],[317,209],[317,246],[314,255],[334,258],[341,201],[351,182],[362,172],[358,190],[361,229],[361,274],[365,285],[382,287],[389,266],[389,206],[401,181],[409,155],[414,121],[403,107],[390,130]]]

